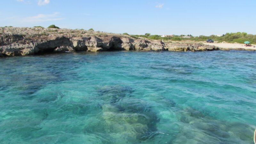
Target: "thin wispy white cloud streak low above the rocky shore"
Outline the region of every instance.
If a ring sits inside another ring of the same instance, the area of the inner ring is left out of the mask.
[[[59,18],[59,12],[54,12],[52,14],[38,14],[37,16],[27,17],[23,21],[27,22],[43,22],[43,21],[56,21],[62,20],[63,18]]]

